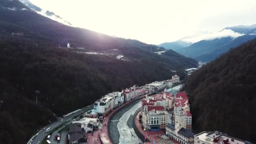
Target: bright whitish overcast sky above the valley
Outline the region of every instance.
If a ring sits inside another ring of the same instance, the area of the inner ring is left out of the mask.
[[[30,1],[75,27],[148,44],[172,42],[201,33],[209,38],[214,37],[209,34],[221,35],[217,32],[224,27],[256,24],[256,0]],[[222,34],[228,33],[232,32]]]

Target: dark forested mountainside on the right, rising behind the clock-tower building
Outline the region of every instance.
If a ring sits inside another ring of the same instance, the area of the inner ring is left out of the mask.
[[[256,142],[256,39],[229,50],[186,80],[195,132]],[[241,133],[241,130],[245,130]]]

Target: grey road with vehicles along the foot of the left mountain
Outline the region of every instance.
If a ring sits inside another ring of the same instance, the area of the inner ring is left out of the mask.
[[[73,114],[71,114],[71,115],[68,115],[67,117],[63,118],[63,121],[58,120],[58,121],[56,121],[56,122],[53,122],[53,123],[47,125],[46,128],[51,128],[51,129],[56,128],[57,126],[59,126],[59,125],[61,125],[62,123],[66,122],[66,120],[69,120],[70,118],[73,119],[75,116],[80,115],[80,114],[81,114],[81,111],[87,112],[87,111],[90,110],[90,109],[93,109],[93,104],[90,105],[90,106],[88,106],[88,107],[85,107],[85,108],[81,109],[81,110],[78,111],[78,112],[75,112],[75,113],[73,113]],[[40,131],[38,132],[38,136],[36,136],[35,139],[32,141],[32,144],[37,144],[38,141],[40,141],[40,143],[41,143],[41,141],[45,141],[45,136],[47,136],[47,135],[48,135],[48,133],[45,132],[45,130],[43,130],[43,129],[40,130]],[[29,140],[29,141],[30,141],[30,140]],[[29,142],[28,142],[28,143],[29,143]]]

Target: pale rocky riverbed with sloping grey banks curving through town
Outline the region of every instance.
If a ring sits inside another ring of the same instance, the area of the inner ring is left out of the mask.
[[[112,117],[109,125],[109,136],[114,144],[139,144],[142,141],[138,139],[133,130],[133,116],[137,109],[141,107],[141,100],[130,104],[128,107],[121,109]]]

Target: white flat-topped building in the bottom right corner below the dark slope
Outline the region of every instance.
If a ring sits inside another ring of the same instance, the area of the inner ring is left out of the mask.
[[[228,136],[226,133],[221,133],[219,131],[203,131],[196,134],[194,138],[194,144],[251,144],[248,141]]]

